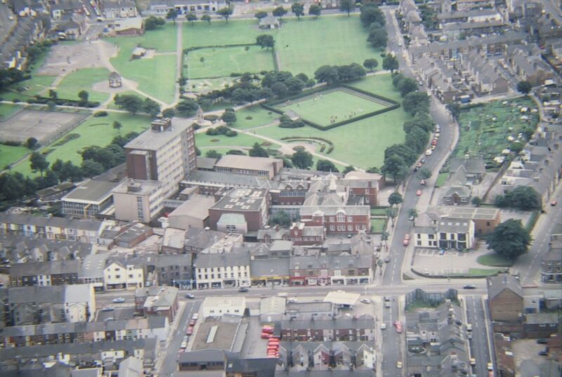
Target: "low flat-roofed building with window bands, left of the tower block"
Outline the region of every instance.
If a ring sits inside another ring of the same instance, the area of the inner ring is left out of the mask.
[[[87,219],[113,203],[112,190],[118,183],[86,181],[63,197],[63,214]]]

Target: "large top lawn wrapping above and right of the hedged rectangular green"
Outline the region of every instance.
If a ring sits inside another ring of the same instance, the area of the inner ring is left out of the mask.
[[[260,34],[272,34],[282,71],[313,76],[325,64],[362,64],[380,51],[367,42],[367,29],[357,15],[322,15],[320,18],[284,18],[280,29],[261,30],[257,20],[195,22],[183,27],[183,46],[224,46],[254,43]]]

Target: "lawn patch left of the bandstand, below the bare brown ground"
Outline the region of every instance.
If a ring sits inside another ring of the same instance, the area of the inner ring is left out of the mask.
[[[74,71],[58,83],[56,87],[58,97],[67,100],[79,100],[78,92],[86,90],[89,93],[90,101],[104,102],[110,95],[96,92],[92,89],[92,86],[100,81],[106,81],[110,73],[107,68],[83,68]]]

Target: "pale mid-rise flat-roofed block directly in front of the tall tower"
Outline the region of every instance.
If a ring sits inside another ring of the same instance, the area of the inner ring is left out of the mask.
[[[161,181],[126,179],[113,189],[115,219],[146,223],[162,212],[164,199]]]

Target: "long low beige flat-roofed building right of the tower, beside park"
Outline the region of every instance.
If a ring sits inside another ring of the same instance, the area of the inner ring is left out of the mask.
[[[217,172],[256,175],[263,179],[273,179],[282,169],[283,160],[267,157],[237,156],[228,154],[215,163]]]

